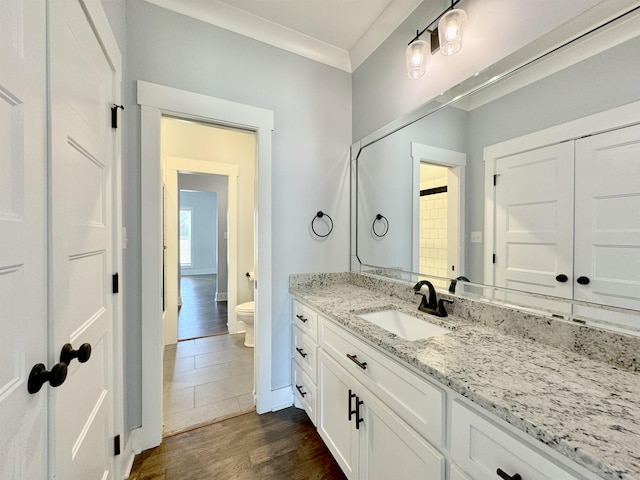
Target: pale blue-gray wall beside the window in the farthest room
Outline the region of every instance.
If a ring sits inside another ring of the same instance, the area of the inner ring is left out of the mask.
[[[218,272],[218,199],[215,192],[180,191],[180,208],[191,208],[191,265],[181,266],[180,275]]]

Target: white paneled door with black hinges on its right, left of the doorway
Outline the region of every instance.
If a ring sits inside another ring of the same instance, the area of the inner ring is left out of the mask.
[[[113,477],[114,73],[80,1],[49,2],[51,350],[89,343],[50,389],[60,479]]]

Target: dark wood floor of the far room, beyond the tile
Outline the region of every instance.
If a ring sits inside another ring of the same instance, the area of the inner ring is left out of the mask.
[[[227,302],[216,302],[216,275],[183,275],[180,296],[178,340],[229,333]]]

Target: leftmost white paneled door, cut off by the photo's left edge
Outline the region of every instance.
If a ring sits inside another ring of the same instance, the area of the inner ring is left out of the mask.
[[[0,478],[47,475],[46,12],[3,3],[0,14]],[[47,367],[51,365],[47,364]]]

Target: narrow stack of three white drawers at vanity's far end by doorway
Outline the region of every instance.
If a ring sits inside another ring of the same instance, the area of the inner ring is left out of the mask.
[[[314,425],[317,410],[318,313],[293,301],[291,381],[296,407],[304,408]]]

